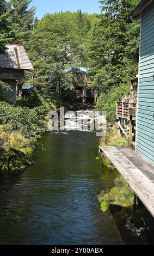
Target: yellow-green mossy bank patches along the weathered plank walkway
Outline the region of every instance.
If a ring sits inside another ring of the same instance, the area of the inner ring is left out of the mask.
[[[106,135],[101,138],[100,145],[126,147],[129,143],[125,137],[122,137],[118,133],[116,127],[112,127],[108,129]],[[115,169],[104,154],[101,154],[101,156],[102,164],[109,168],[109,172],[110,170]],[[110,205],[131,207],[134,204],[134,193],[120,174],[114,180],[114,184],[115,186],[113,188],[108,191],[101,191],[98,195],[98,201],[100,202],[101,210],[103,212],[105,212]]]

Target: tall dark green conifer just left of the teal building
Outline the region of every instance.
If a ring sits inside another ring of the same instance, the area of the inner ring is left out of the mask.
[[[139,0],[103,0],[102,15],[89,42],[90,74],[94,86],[104,93],[129,83],[138,71],[139,25],[128,14]]]

